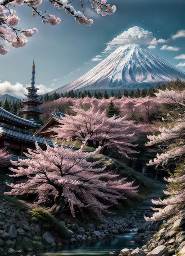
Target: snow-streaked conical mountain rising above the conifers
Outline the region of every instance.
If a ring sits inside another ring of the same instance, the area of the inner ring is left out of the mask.
[[[85,75],[55,90],[115,89],[137,87],[179,78],[185,73],[143,45],[121,45]]]

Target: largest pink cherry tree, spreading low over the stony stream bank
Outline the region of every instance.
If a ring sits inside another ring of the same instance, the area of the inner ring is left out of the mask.
[[[119,179],[119,175],[104,172],[106,166],[96,168],[100,161],[87,161],[87,158],[100,152],[100,147],[88,153],[83,152],[86,141],[76,151],[73,146],[67,149],[64,145],[53,143],[54,147],[46,144],[45,151],[36,143],[36,150],[28,149],[28,154],[25,153],[28,159],[11,161],[18,168],[10,168],[14,174],[9,176],[27,175],[27,180],[7,184],[12,190],[5,194],[36,194],[35,204],[54,202],[57,212],[69,206],[73,216],[76,211],[82,212],[82,209],[87,208],[100,219],[103,213],[109,212],[107,208],[110,204],[118,204],[119,199],[136,195],[137,187],[133,186],[133,182],[126,183],[126,178]]]

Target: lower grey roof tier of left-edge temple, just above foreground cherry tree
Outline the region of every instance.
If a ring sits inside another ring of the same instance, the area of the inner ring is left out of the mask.
[[[29,135],[29,134],[23,134],[21,132],[16,132],[14,130],[7,129],[5,127],[0,127],[0,136],[6,136],[9,138],[14,138],[17,140],[25,141],[25,143],[27,143],[27,142],[36,143],[36,141],[37,141],[38,144],[45,145],[46,143],[48,143],[48,145],[53,146],[52,141],[44,140],[44,138],[35,137],[35,136]]]

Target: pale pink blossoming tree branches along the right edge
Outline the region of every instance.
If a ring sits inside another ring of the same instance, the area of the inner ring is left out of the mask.
[[[148,136],[146,146],[158,145],[162,153],[158,153],[154,160],[150,160],[148,165],[167,166],[171,171],[171,166],[176,166],[174,172],[170,173],[168,182],[167,199],[153,201],[162,208],[153,208],[157,212],[153,217],[146,218],[149,221],[164,219],[175,213],[180,213],[185,204],[185,91],[178,88],[173,90],[158,90],[155,93],[158,98],[168,100],[169,113],[167,118],[163,118],[164,126],[159,127],[159,134]],[[173,165],[171,165],[173,163]]]

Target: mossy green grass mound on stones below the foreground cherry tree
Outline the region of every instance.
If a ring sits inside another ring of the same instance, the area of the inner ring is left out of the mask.
[[[43,208],[36,208],[32,211],[31,215],[42,220],[51,232],[57,233],[60,238],[65,242],[70,238],[68,229],[62,225],[51,213]]]

